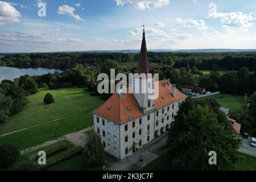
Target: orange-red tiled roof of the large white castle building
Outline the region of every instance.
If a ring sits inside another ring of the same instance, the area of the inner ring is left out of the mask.
[[[160,109],[187,97],[178,89],[176,89],[176,97],[173,97],[171,84],[166,84],[166,87],[163,86],[163,81],[156,81],[156,84],[159,85],[159,97],[155,100],[155,109]],[[127,93],[125,98],[114,93],[102,106],[94,110],[93,114],[118,124],[129,122],[144,115],[132,93]]]

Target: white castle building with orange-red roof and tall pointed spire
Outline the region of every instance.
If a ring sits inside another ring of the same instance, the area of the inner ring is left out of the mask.
[[[144,30],[138,73],[150,73]],[[148,79],[158,86],[158,98],[149,99],[147,93],[114,93],[93,111],[94,130],[100,134],[105,151],[115,158],[132,155],[170,129],[181,102],[187,97],[170,80],[155,81],[154,76],[133,77],[131,89]]]

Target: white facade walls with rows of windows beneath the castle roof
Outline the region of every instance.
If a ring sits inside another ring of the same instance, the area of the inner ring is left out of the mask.
[[[184,100],[158,110],[151,109],[142,117],[122,125],[93,114],[94,130],[100,134],[106,152],[124,159],[170,129],[179,105]]]

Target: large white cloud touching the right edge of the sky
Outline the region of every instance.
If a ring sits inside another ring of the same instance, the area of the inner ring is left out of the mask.
[[[207,18],[221,18],[223,27],[240,28],[241,30],[247,30],[256,22],[256,18],[253,18],[251,14],[243,14],[242,12],[212,13]]]

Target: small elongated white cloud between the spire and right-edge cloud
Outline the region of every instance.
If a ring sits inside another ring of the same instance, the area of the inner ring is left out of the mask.
[[[196,27],[199,30],[207,30],[207,27],[205,26],[204,20],[195,20],[195,19],[180,19],[176,18],[176,22],[178,25],[181,25],[183,27]]]

